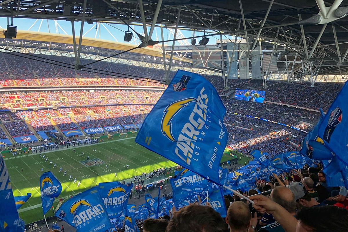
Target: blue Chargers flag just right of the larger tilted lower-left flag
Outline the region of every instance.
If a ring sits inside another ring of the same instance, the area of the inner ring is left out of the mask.
[[[99,183],[98,193],[104,202],[104,208],[110,219],[117,218],[126,208],[133,184],[124,185],[118,181]]]

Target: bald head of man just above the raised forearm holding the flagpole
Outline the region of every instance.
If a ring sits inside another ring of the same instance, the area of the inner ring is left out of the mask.
[[[283,206],[289,213],[296,211],[296,199],[290,189],[284,186],[277,186],[271,192],[269,198],[279,205]]]

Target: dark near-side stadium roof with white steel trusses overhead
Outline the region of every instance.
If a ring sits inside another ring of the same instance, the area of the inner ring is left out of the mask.
[[[188,30],[208,29],[207,36],[238,34],[250,43],[251,48],[256,45],[256,40],[262,40],[262,46],[276,43],[272,50],[277,52],[290,50],[298,53],[302,75],[310,75],[312,80],[317,74],[338,74],[346,78],[348,73],[348,0],[0,2],[2,17],[142,23],[148,27],[157,24],[173,28],[178,25]],[[303,19],[305,21],[301,21]],[[149,42],[151,33],[151,30],[145,33],[145,42]]]

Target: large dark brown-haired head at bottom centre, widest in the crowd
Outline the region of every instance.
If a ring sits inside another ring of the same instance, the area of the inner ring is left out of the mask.
[[[166,232],[228,232],[226,223],[212,207],[188,205],[173,213]]]

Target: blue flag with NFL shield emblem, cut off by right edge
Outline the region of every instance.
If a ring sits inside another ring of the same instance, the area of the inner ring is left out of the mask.
[[[348,83],[331,104],[319,125],[318,136],[342,162],[348,165],[347,127],[348,127]]]

